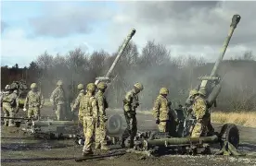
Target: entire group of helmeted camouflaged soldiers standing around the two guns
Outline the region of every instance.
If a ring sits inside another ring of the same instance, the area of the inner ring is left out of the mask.
[[[65,92],[62,86],[62,81],[58,80],[57,88],[54,89],[50,97],[50,101],[54,105],[59,121],[67,119]],[[95,140],[95,148],[108,150],[109,148],[107,147],[106,141],[106,123],[108,121],[106,109],[109,107],[109,104],[104,95],[107,84],[105,82],[99,82],[97,85],[95,83],[89,83],[85,90],[83,84],[79,84],[78,89],[79,94],[73,105],[71,105],[71,112],[78,110],[78,119],[83,125],[83,135],[85,137],[83,156],[93,153],[93,140]],[[136,83],[134,84],[134,89],[128,91],[123,99],[123,112],[127,127],[122,134],[122,148],[125,147],[124,142],[129,136],[130,148],[134,147],[134,137],[137,133],[136,108],[139,106],[138,93],[143,89],[144,87],[141,83]],[[12,103],[18,100],[17,93],[17,90],[14,90],[4,98],[3,110],[5,116],[14,117],[15,109]],[[178,119],[172,112],[172,102],[168,101],[168,94],[168,89],[160,89],[160,94],[154,102],[153,115],[156,119],[159,131],[173,135],[172,123],[178,123]],[[23,110],[28,111],[29,118],[38,119],[40,109],[44,105],[44,102],[44,97],[41,92],[38,91],[36,83],[32,83]],[[211,126],[211,114],[203,90],[192,89],[186,101],[186,106],[189,108],[187,112],[193,113],[197,120],[196,125],[191,129],[192,137],[198,137],[204,133],[212,133],[214,131]],[[5,125],[13,126],[13,123],[13,119],[5,120]]]

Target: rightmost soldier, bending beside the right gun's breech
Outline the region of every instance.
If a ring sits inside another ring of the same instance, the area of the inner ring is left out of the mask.
[[[205,100],[205,92],[198,90],[197,93],[194,92],[191,93],[191,95],[194,96],[192,110],[197,120],[197,124],[192,130],[191,137],[199,137],[202,133],[214,132],[210,120],[211,114],[208,109],[207,101]]]

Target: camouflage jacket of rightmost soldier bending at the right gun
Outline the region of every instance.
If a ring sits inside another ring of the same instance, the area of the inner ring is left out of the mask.
[[[202,119],[205,115],[209,114],[209,109],[207,108],[207,102],[201,96],[195,97],[194,103],[192,105],[192,110],[197,120]]]

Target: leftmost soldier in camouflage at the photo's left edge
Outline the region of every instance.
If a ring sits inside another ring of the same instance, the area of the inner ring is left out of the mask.
[[[3,111],[6,117],[14,117],[14,114],[19,109],[18,90],[13,90],[12,93],[3,96]],[[6,126],[15,126],[13,119],[5,119]]]

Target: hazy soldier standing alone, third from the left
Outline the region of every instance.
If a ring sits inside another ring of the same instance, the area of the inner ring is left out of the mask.
[[[66,96],[63,89],[62,80],[58,80],[57,88],[51,94],[50,101],[54,106],[54,110],[56,111],[58,121],[65,120],[67,117],[66,113]]]

